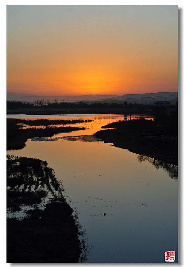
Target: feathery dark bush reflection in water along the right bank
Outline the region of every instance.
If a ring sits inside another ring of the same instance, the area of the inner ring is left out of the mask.
[[[178,166],[177,165],[174,165],[174,164],[171,164],[171,163],[167,163],[167,162],[164,162],[162,160],[155,159],[155,158],[150,158],[150,157],[147,157],[147,156],[143,156],[143,155],[138,155],[137,156],[137,160],[139,162],[147,160],[148,162],[152,163],[157,170],[159,170],[160,168],[163,168],[164,171],[166,171],[167,174],[172,179],[174,179],[175,181],[178,180]]]

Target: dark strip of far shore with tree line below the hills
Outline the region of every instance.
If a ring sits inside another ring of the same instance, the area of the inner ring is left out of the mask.
[[[134,114],[156,114],[162,112],[169,112],[176,110],[177,105],[163,104],[140,104],[140,103],[128,103],[126,101],[115,102],[113,99],[104,100],[102,102],[63,102],[57,99],[53,100],[53,103],[49,101],[38,100],[34,103],[23,103],[21,101],[7,101],[6,102],[7,114],[27,114],[27,115],[50,115],[50,114],[122,114],[122,113],[134,113]]]

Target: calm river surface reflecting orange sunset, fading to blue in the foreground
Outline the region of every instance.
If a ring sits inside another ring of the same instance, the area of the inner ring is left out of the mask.
[[[129,115],[8,117],[93,120],[80,124],[86,130],[33,138],[24,149],[7,151],[47,160],[62,180],[67,201],[77,207],[92,246],[87,262],[164,262],[166,250],[176,252],[177,262],[177,178],[155,168],[148,157],[140,160],[139,155],[92,136],[102,125],[130,119]],[[135,117],[140,115],[131,119]]]

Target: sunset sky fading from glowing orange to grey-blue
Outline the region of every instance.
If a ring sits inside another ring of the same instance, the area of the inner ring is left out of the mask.
[[[7,91],[177,90],[177,5],[7,5]]]

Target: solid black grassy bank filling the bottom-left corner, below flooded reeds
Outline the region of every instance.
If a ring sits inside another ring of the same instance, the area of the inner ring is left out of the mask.
[[[7,262],[78,262],[82,250],[72,208],[58,198],[30,213],[21,221],[7,219]]]

